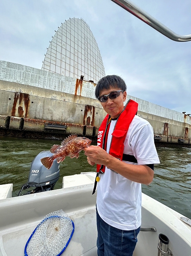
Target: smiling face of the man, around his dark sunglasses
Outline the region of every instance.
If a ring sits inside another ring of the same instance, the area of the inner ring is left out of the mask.
[[[107,95],[111,92],[115,92],[117,90],[121,90],[120,88],[113,88],[110,87],[108,90],[102,90],[99,94],[99,96]],[[115,98],[114,100],[111,100],[108,97],[108,100],[106,102],[101,102],[102,107],[108,113],[112,119],[117,118],[118,115],[122,112],[123,110],[123,102],[126,100],[127,93],[125,92],[120,92],[120,95]]]

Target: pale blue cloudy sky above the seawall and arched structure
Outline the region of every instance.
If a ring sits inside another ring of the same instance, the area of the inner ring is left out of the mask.
[[[190,0],[132,0],[179,35],[191,34]],[[106,75],[127,93],[191,114],[191,41],[175,42],[111,0],[1,0],[0,60],[42,67],[55,30],[83,18],[98,44]]]

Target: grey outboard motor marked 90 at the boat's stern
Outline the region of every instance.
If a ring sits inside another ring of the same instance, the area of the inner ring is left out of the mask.
[[[35,189],[27,191],[26,194],[53,190],[60,176],[60,164],[58,164],[55,159],[51,168],[48,170],[40,161],[41,158],[52,155],[53,154],[48,150],[40,152],[34,158],[31,163],[28,182],[22,185],[18,196],[21,195],[22,190],[26,190],[30,187],[35,187]]]

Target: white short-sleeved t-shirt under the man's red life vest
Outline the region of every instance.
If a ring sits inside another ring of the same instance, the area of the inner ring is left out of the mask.
[[[108,132],[107,152],[116,120],[112,120]],[[135,156],[138,163],[159,164],[154,144],[153,128],[148,121],[135,116],[124,141],[124,154]],[[110,226],[121,230],[134,230],[141,225],[141,184],[112,172],[107,167],[97,183],[97,210]]]

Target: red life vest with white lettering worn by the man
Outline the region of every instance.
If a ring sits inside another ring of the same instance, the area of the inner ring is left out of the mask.
[[[132,122],[134,116],[138,110],[138,103],[134,100],[128,100],[127,104],[124,106],[124,109],[117,118],[114,131],[112,132],[112,140],[110,143],[109,154],[122,160],[123,150],[124,150],[124,140],[130,123]],[[98,130],[97,146],[100,146],[106,150],[108,131],[110,126],[111,117],[107,114],[103,122],[100,125]],[[96,183],[98,181],[97,177],[99,174],[103,174],[105,171],[105,166],[97,164],[97,175],[93,194],[95,193]]]

